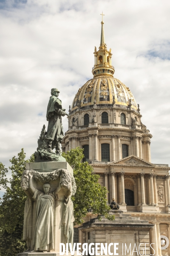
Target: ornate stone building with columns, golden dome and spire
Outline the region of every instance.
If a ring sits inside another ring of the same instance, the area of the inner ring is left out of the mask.
[[[114,197],[124,212],[154,223],[150,242],[153,238],[157,241],[160,234],[170,239],[170,168],[151,163],[152,135],[142,124],[130,89],[113,77],[112,53],[105,44],[101,23],[99,50],[94,50],[94,77],[79,88],[69,109],[62,150],[84,148],[83,160],[100,175],[99,183],[108,189],[108,203]],[[156,255],[170,255],[170,247],[161,250],[156,244],[155,248]]]

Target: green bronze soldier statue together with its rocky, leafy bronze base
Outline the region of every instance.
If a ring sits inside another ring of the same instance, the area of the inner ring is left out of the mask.
[[[37,152],[34,153],[35,162],[44,161],[60,161],[65,162],[65,158],[61,156],[60,143],[64,137],[62,128],[62,116],[68,114],[65,109],[62,108],[62,102],[58,98],[59,90],[57,88],[51,89],[51,97],[47,107],[47,121],[48,128],[45,131],[45,125],[43,125],[40,139],[38,140]],[[56,153],[53,149],[55,148]]]

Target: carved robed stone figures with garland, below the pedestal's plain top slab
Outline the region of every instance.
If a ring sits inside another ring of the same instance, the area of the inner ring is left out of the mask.
[[[57,179],[60,177],[59,181]],[[52,183],[52,189],[50,183]],[[40,189],[40,184],[43,183]],[[58,185],[56,185],[58,184]],[[74,177],[67,169],[41,173],[26,170],[21,177],[21,187],[28,195],[24,211],[23,240],[31,252],[54,251],[54,209],[55,201],[62,201],[63,207],[59,220],[61,240],[58,244],[73,244],[74,209],[71,195],[76,192]],[[64,198],[63,198],[64,197]],[[63,199],[62,199],[63,198]]]

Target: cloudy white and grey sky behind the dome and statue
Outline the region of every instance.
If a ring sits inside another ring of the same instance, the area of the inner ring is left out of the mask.
[[[0,0],[0,161],[37,148],[50,90],[68,110],[92,78],[101,13],[114,76],[140,104],[152,163],[170,164],[169,0]],[[63,118],[67,131],[67,118]]]

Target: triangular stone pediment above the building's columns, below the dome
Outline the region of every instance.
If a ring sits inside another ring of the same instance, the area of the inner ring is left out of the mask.
[[[114,165],[121,165],[121,166],[152,166],[154,167],[155,165],[152,163],[149,163],[147,161],[144,161],[140,157],[136,157],[134,155],[122,158],[120,160],[117,160],[113,163],[111,163],[112,166]]]

